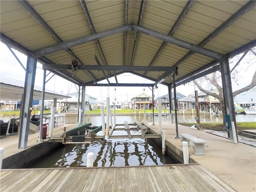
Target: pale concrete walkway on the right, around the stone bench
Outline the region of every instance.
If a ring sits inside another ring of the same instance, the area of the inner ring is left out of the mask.
[[[158,124],[148,126],[158,132]],[[175,139],[175,123],[162,122],[166,130],[166,144],[170,142],[182,151],[180,139]],[[178,125],[178,134],[188,133],[206,141],[206,155],[196,156],[189,147],[190,158],[222,179],[232,188],[241,192],[256,191],[256,148],[243,143],[232,144],[230,140],[204,131]]]

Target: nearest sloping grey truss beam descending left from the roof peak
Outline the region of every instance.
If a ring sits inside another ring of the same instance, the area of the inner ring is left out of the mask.
[[[132,24],[127,25],[127,26],[118,27],[115,29],[110,29],[110,30],[107,30],[107,31],[104,31],[101,33],[84,36],[84,37],[81,37],[78,39],[58,43],[56,45],[40,48],[40,49],[32,51],[32,54],[34,54],[38,57],[45,56],[45,55],[59,52],[59,51],[62,51],[62,50],[68,49],[68,48],[72,48],[74,46],[82,45],[82,44],[94,41],[96,39],[99,39],[99,38],[107,37],[107,36],[114,35],[114,34],[117,34],[120,32],[125,32],[127,30],[132,30]]]

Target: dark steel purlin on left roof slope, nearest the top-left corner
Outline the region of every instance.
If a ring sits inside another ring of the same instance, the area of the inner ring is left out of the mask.
[[[26,0],[18,0],[20,5],[58,42],[63,42],[61,38],[52,30],[52,28],[46,23],[46,21],[34,10],[34,8]],[[80,64],[84,65],[82,61],[70,50],[69,48],[66,51],[76,59]],[[96,80],[96,77],[88,71],[88,74],[93,80]]]

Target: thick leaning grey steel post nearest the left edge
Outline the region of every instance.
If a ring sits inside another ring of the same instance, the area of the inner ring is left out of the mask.
[[[32,110],[34,82],[36,76],[36,62],[37,59],[28,54],[26,77],[24,84],[24,93],[22,98],[22,110],[20,119],[20,135],[18,148],[27,148],[28,132],[30,124],[30,115]]]

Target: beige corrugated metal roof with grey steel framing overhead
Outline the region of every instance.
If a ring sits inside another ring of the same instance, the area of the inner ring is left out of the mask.
[[[183,84],[256,45],[256,8],[243,0],[0,1],[0,32],[2,42],[79,85],[124,72],[168,85],[177,66]]]

